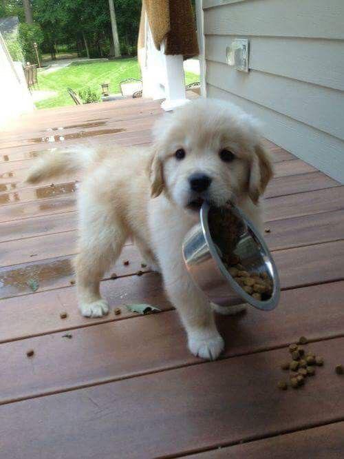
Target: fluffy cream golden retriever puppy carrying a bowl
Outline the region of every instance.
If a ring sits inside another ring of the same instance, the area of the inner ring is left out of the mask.
[[[204,200],[222,205],[235,197],[261,228],[259,196],[272,176],[255,121],[222,101],[197,99],[166,114],[154,129],[153,147],[99,147],[96,151],[43,156],[27,181],[85,171],[78,197],[76,257],[81,314],[99,317],[109,305],[100,281],[133,238],[151,269],[162,273],[166,293],[180,314],[189,349],[215,359],[224,349],[213,307],[191,281],[182,241],[195,225]],[[220,309],[233,314],[240,307]]]

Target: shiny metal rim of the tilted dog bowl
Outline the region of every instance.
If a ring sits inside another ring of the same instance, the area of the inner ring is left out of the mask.
[[[250,218],[248,218],[244,212],[242,212],[239,207],[237,207],[235,204],[230,203],[233,212],[241,218],[244,223],[246,223],[248,230],[250,232],[250,236],[256,238],[261,245],[262,252],[264,252],[264,256],[268,258],[268,261],[270,262],[271,269],[272,269],[272,278],[274,280],[274,288],[272,291],[272,295],[270,299],[268,300],[256,300],[249,294],[245,292],[244,289],[241,288],[241,286],[235,282],[232,276],[230,276],[228,270],[224,266],[224,263],[222,262],[221,258],[219,257],[219,254],[217,253],[217,249],[215,247],[215,243],[213,242],[213,238],[211,237],[211,232],[209,230],[209,225],[208,225],[208,214],[209,210],[211,209],[211,205],[209,205],[206,201],[202,204],[201,210],[200,210],[200,224],[202,227],[202,232],[204,239],[206,241],[206,244],[208,245],[209,252],[211,253],[211,256],[215,260],[215,263],[217,265],[217,268],[219,269],[219,272],[221,272],[222,276],[226,278],[226,281],[230,284],[230,287],[232,287],[235,292],[243,298],[246,303],[249,303],[250,305],[256,307],[257,309],[261,309],[264,311],[271,311],[272,309],[275,309],[279,303],[279,297],[280,297],[280,292],[281,292],[281,287],[279,283],[279,274],[277,272],[277,267],[275,265],[275,261],[272,258],[272,255],[270,253],[270,250],[268,249],[268,246],[266,245],[266,242],[264,241],[264,238],[261,236],[259,231],[257,230],[257,227],[250,221]]]

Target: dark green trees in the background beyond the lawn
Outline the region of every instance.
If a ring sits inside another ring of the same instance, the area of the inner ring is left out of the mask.
[[[0,17],[18,16],[21,23],[28,23],[30,10],[33,26],[40,26],[43,31],[43,43],[40,48],[43,52],[49,52],[52,59],[56,59],[56,50],[61,47],[71,51],[77,50],[79,56],[135,55],[142,1],[112,2],[114,10],[116,8],[115,39],[111,27],[109,0],[1,0]],[[35,34],[37,37],[34,37]],[[29,34],[28,29],[24,27],[22,37],[25,40],[34,38],[37,43],[41,40],[37,28]],[[25,59],[32,61],[30,43],[26,43],[25,53],[28,53]]]

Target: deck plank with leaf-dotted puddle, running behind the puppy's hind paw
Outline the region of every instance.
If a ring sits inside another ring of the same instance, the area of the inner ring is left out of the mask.
[[[279,249],[273,252],[273,256],[283,289],[344,278],[344,241]],[[67,256],[0,268],[0,298],[30,293],[30,279],[39,281],[39,292],[70,285],[74,278],[72,259]],[[127,267],[122,264],[126,259],[130,261]],[[142,258],[136,247],[127,245],[120,259],[107,271],[104,278],[109,278],[113,272],[118,276],[126,276],[141,270],[146,271],[141,263]]]

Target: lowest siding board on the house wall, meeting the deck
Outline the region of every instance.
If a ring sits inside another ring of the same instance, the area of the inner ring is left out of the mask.
[[[255,102],[207,85],[207,96],[239,105],[264,122],[264,136],[344,183],[344,141]]]

